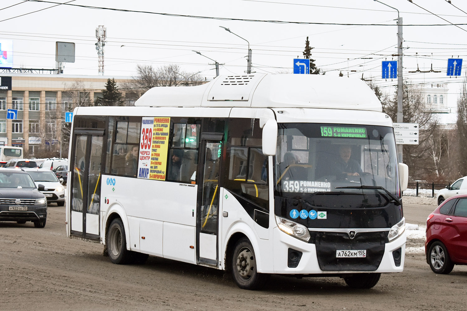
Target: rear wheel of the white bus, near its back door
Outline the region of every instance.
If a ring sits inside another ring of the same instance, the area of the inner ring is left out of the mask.
[[[127,241],[125,240],[125,227],[120,218],[115,218],[107,231],[107,253],[110,261],[116,264],[130,263],[132,260],[131,251],[127,250]]]

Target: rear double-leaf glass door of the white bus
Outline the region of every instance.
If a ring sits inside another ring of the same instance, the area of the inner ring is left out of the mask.
[[[71,234],[99,240],[102,135],[75,134],[71,163]]]

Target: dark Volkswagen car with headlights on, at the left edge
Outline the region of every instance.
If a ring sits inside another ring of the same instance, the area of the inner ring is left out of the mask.
[[[47,220],[47,199],[31,176],[18,169],[0,168],[0,221],[34,222],[44,228]]]

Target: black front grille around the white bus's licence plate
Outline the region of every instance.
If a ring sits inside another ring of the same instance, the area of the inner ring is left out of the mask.
[[[357,233],[351,239],[346,233],[313,232],[319,268],[324,271],[374,271],[384,255],[388,232]],[[363,258],[336,258],[336,250],[366,249]]]

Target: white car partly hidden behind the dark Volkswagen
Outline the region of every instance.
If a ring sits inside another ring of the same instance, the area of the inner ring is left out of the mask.
[[[47,168],[24,168],[25,172],[31,175],[36,186],[44,186],[41,192],[47,198],[48,203],[57,203],[57,206],[65,205],[65,188],[58,180],[55,173]]]

